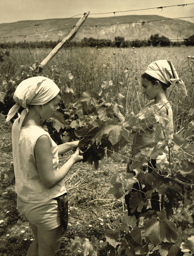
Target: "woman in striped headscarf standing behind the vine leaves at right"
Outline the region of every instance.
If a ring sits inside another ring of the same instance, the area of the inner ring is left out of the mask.
[[[177,75],[177,72],[170,60],[157,60],[152,62],[145,72],[141,76],[141,84],[142,84],[142,92],[148,100],[151,100],[141,111],[137,114],[139,119],[142,119],[142,128],[143,130],[137,131],[132,130],[132,133],[135,133],[133,147],[132,147],[132,158],[140,153],[141,151],[149,151],[151,148],[155,146],[155,141],[152,136],[153,127],[156,123],[156,120],[152,114],[149,116],[149,110],[151,113],[151,108],[153,106],[157,106],[159,111],[158,114],[165,113],[168,118],[168,125],[165,129],[166,138],[168,143],[173,140],[173,112],[170,106],[170,102],[167,100],[166,89],[171,84],[176,84],[178,88],[182,90],[182,92],[187,95],[187,90],[185,85]],[[121,122],[124,122],[124,116],[119,113],[116,115]],[[151,173],[156,170],[156,163],[159,160],[162,160],[163,163],[167,162],[167,148],[164,148],[163,154],[158,156],[156,159],[150,159],[143,166],[143,170],[148,169],[148,172]],[[146,167],[147,166],[147,167]],[[134,170],[130,170],[130,162],[127,166],[127,172],[134,172]],[[134,184],[133,188],[139,190],[141,188],[140,183]],[[146,192],[146,188],[141,188],[143,192]],[[135,191],[135,190],[133,190]],[[144,196],[144,193],[142,193]],[[135,215],[138,218],[140,212],[131,213],[131,207],[129,203],[129,199],[131,198],[130,193],[125,196],[125,203],[127,204],[128,215]],[[152,194],[151,198],[151,209],[160,211],[160,203],[159,203],[159,194],[155,191]],[[142,211],[146,211],[146,209],[142,209]],[[142,213],[143,213],[142,212]]]

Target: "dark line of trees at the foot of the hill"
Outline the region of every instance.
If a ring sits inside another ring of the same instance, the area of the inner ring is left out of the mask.
[[[4,42],[0,43],[0,48],[54,48],[62,39],[58,39],[57,41],[25,41],[24,42]],[[170,39],[166,36],[159,36],[159,34],[151,35],[147,40],[133,40],[133,41],[125,41],[123,36],[115,36],[114,41],[110,39],[96,39],[93,37],[84,37],[80,42],[71,41],[66,42],[63,47],[142,47],[142,46],[181,46],[182,44],[189,46],[194,46],[194,35],[189,38],[185,38],[182,42],[171,42]]]

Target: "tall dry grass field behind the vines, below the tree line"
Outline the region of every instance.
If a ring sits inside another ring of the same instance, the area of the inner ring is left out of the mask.
[[[0,63],[0,84],[3,80],[15,80],[20,75],[21,65],[40,63],[49,54],[50,49],[16,49],[10,56],[4,56]],[[182,47],[142,47],[142,48],[65,48],[44,67],[43,74],[55,80],[66,80],[68,73],[74,76],[73,90],[79,98],[86,90],[100,92],[103,81],[121,79],[120,93],[125,96],[125,113],[138,113],[145,105],[141,93],[141,74],[154,60],[171,60],[184,81],[188,96],[183,97],[177,88],[169,88],[167,94],[172,101],[175,128],[185,127],[190,120],[185,118],[194,106],[193,73],[194,62],[192,46]],[[30,71],[30,69],[29,69]]]

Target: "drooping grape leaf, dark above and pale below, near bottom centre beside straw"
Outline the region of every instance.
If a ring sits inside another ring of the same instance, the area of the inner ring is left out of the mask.
[[[120,228],[113,229],[109,224],[105,225],[105,238],[106,241],[111,244],[114,248],[120,242]]]

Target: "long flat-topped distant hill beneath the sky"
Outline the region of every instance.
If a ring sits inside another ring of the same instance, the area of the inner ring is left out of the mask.
[[[3,23],[0,24],[0,42],[19,42],[23,40],[57,41],[58,39],[67,36],[71,31],[71,28],[73,28],[79,19],[80,18],[64,20],[22,20],[13,23]],[[144,40],[148,39],[151,34],[159,34],[160,36],[163,35],[169,39],[177,39],[177,37],[180,39],[187,38],[194,34],[194,23],[185,20],[161,20],[144,23],[144,25],[141,25],[143,21],[160,19],[167,18],[159,15],[126,15],[115,16],[115,18],[87,18],[87,20],[83,23],[82,27],[74,37],[74,41],[81,41],[81,39],[84,37],[114,40],[115,36],[123,36],[125,40]],[[27,36],[23,37],[22,35]]]

